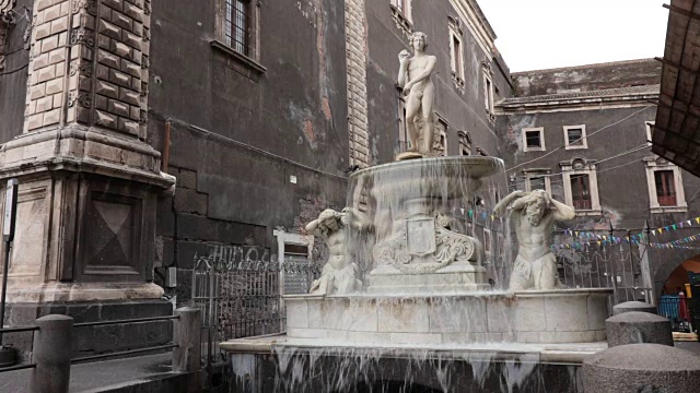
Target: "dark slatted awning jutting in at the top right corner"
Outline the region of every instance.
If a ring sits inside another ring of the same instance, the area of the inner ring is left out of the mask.
[[[672,0],[652,152],[700,176],[700,0]]]

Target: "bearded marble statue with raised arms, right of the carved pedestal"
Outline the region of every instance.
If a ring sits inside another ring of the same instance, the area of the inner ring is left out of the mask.
[[[547,191],[514,191],[494,207],[494,213],[511,216],[518,250],[513,264],[511,290],[555,289],[561,286],[557,277],[557,260],[550,250],[552,229],[558,221],[573,219],[573,209],[549,196]]]

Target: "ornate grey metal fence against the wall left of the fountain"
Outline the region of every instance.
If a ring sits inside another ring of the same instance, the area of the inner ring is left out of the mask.
[[[283,262],[236,261],[226,246],[195,257],[191,305],[202,312],[202,340],[210,361],[218,344],[233,338],[280,333],[285,327],[283,295],[306,294],[320,267],[301,253],[285,253]]]

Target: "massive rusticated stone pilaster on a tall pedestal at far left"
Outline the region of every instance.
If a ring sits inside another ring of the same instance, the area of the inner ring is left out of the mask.
[[[24,130],[0,150],[20,179],[9,301],[159,297],[150,0],[36,0],[33,24]]]

